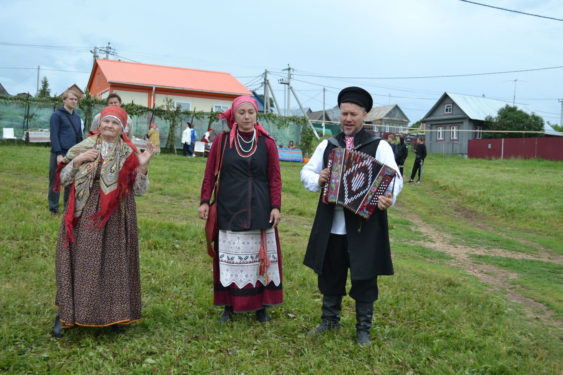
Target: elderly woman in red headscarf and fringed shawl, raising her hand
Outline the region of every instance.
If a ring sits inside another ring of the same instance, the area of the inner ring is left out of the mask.
[[[151,142],[137,152],[127,135],[127,112],[101,111],[100,129],[70,148],[56,172],[55,189],[70,185],[57,239],[55,274],[59,311],[53,336],[75,326],[111,326],[141,319],[135,198],[149,186]]]

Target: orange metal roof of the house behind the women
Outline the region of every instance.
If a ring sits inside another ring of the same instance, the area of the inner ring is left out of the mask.
[[[252,95],[230,73],[96,58],[108,82]]]

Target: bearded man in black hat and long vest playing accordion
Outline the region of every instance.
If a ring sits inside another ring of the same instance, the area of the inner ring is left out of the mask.
[[[342,132],[323,140],[303,166],[301,182],[308,191],[319,192],[328,182],[328,157],[337,147],[363,152],[398,170],[391,146],[363,128],[372,105],[371,95],[359,87],[347,87],[338,94]],[[350,297],[356,302],[356,342],[370,346],[373,302],[378,297],[377,276],[393,274],[386,210],[395,203],[401,188],[403,178],[397,173],[378,198],[379,211],[369,219],[339,205],[323,203],[321,192],[303,264],[318,274],[319,291],[323,293],[322,322],[307,332],[307,336],[338,332],[350,268]]]

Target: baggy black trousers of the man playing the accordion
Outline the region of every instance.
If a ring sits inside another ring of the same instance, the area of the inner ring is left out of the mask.
[[[324,256],[323,273],[318,275],[319,291],[329,296],[345,296],[350,268],[350,253],[346,234],[330,233]],[[377,276],[367,280],[352,280],[350,297],[358,302],[377,300]]]

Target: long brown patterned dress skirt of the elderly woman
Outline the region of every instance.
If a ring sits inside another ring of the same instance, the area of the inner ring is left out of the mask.
[[[95,180],[74,227],[75,241],[66,249],[66,229],[61,224],[55,260],[55,305],[63,328],[74,324],[102,327],[141,319],[135,197],[129,194],[106,225],[93,230],[88,216],[99,209],[100,184]]]

